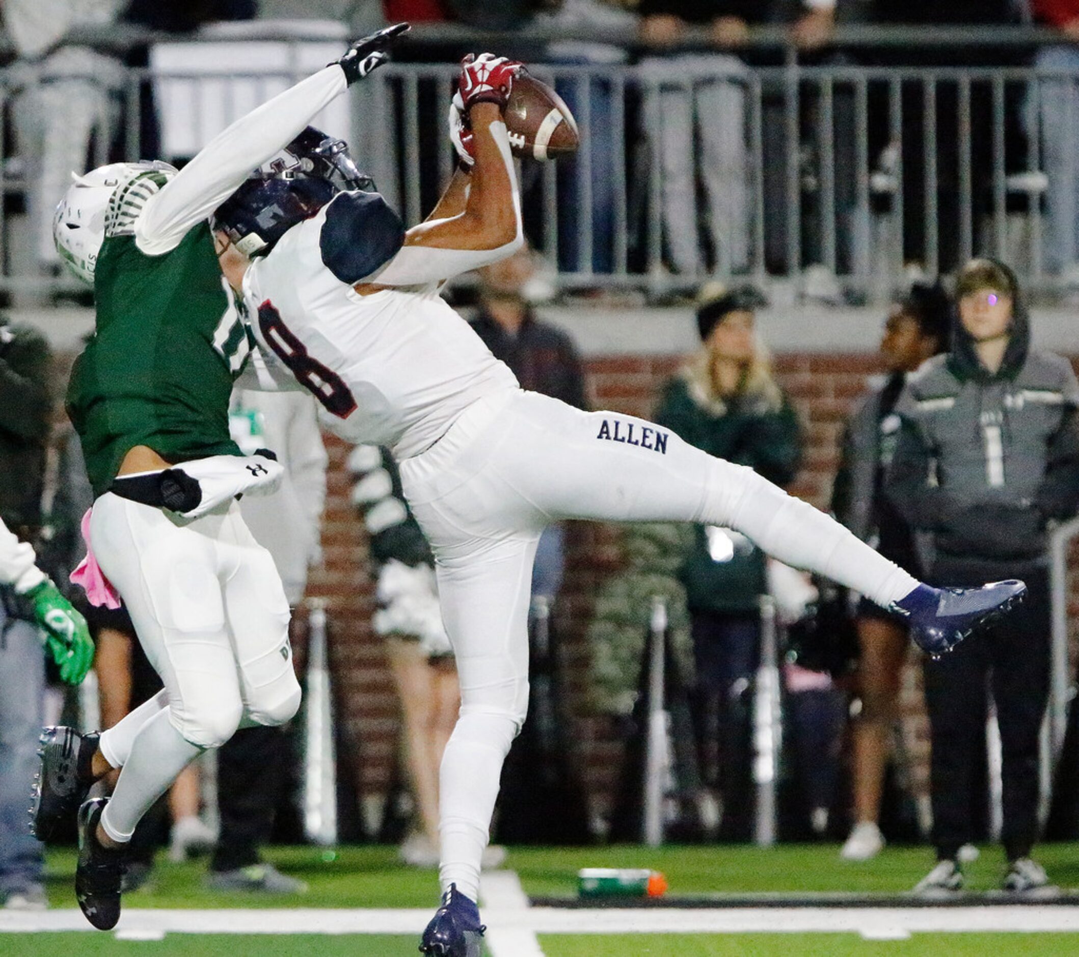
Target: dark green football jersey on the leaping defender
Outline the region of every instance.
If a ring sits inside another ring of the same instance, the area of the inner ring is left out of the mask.
[[[209,225],[162,256],[141,252],[132,235],[106,238],[94,291],[95,332],[67,392],[94,494],[135,446],[169,462],[241,454],[229,397],[250,340]]]

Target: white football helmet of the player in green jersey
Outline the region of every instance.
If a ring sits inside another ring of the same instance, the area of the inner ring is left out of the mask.
[[[73,182],[53,215],[53,241],[56,243],[56,251],[71,272],[84,283],[94,284],[94,268],[97,265],[98,250],[105,241],[110,201],[148,173],[170,176],[175,175],[176,167],[154,160],[109,163],[82,176],[71,174]],[[158,188],[160,182],[153,192]],[[142,199],[145,201],[146,197]]]

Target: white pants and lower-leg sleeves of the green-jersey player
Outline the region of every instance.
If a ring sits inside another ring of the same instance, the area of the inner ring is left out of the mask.
[[[244,724],[284,724],[300,705],[288,602],[270,552],[235,502],[186,521],[111,492],[94,503],[94,553],[127,607],[164,692],[101,735],[123,767],[103,828],[127,840],[200,752]]]

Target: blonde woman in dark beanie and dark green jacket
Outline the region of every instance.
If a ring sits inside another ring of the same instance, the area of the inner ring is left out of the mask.
[[[802,435],[755,331],[755,312],[764,305],[753,286],[702,291],[697,327],[704,346],[667,384],[656,422],[710,455],[787,484],[802,459]],[[752,826],[752,683],[765,570],[764,552],[745,536],[698,525],[681,571],[697,666],[702,777],[706,785],[719,785],[721,833],[733,839],[748,839]]]

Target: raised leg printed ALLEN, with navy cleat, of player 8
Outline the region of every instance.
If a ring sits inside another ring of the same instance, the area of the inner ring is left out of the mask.
[[[923,585],[831,516],[753,469],[708,455],[641,419],[581,412],[525,393],[503,412],[497,427],[513,436],[500,447],[498,481],[546,514],[734,529],[779,561],[907,617],[912,639],[931,655],[950,651],[984,620],[1003,614],[1024,591],[1020,582],[980,589]],[[484,435],[482,441],[491,448],[494,438]],[[546,469],[536,467],[534,449],[544,450]],[[477,501],[497,501],[500,488],[472,491]]]

